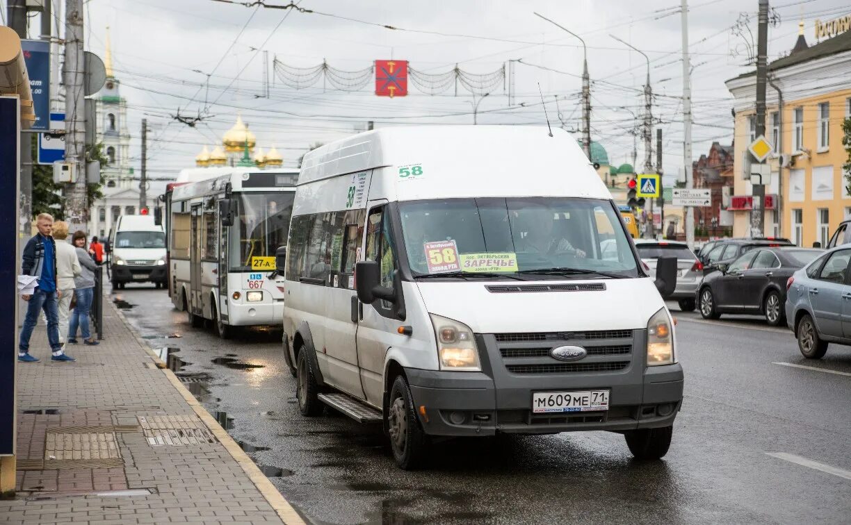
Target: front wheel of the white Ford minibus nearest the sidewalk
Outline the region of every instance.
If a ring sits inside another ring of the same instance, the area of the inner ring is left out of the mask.
[[[422,465],[428,454],[430,440],[420,426],[420,418],[414,409],[414,397],[404,375],[397,375],[390,391],[387,434],[393,459],[398,466],[407,471]]]

